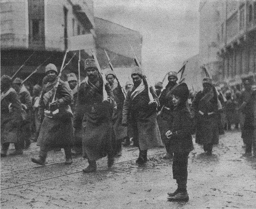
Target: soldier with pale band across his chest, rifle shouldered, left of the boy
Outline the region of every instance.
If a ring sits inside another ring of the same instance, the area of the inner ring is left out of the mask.
[[[131,78],[134,86],[128,90],[126,95],[122,124],[127,125],[128,117],[131,114],[133,137],[138,139],[140,150],[136,162],[139,165],[144,165],[148,160],[148,149],[163,146],[157,124],[159,100],[152,86],[150,86],[150,92],[148,92],[148,84],[143,79],[141,68],[134,67],[131,71]],[[153,102],[150,102],[149,94],[152,94]]]

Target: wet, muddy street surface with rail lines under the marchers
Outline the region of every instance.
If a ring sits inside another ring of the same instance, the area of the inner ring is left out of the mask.
[[[176,189],[172,161],[165,148],[149,150],[149,162],[138,167],[138,149],[124,147],[107,168],[97,161],[96,173],[83,173],[81,156],[65,165],[64,150],[48,153],[47,164],[30,161],[39,147],[32,143],[23,155],[1,158],[1,209],[7,208],[256,208],[256,158],[243,157],[241,133],[220,136],[213,155],[194,143],[189,154],[188,202],[168,202]],[[195,139],[193,139],[195,142]]]

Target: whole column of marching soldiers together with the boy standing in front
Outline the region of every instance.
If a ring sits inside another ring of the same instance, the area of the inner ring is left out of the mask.
[[[147,151],[154,147],[166,148],[164,159],[173,159],[173,178],[178,188],[168,193],[168,200],[188,200],[188,155],[193,150],[191,135],[212,155],[219,134],[241,128],[246,155],[255,149],[255,95],[253,81],[243,82],[242,92],[222,92],[211,78],[202,81],[203,90],[193,94],[186,83],[177,83],[176,72],[168,73],[168,84],[150,86],[140,67],[131,71],[123,89],[113,70],[106,70],[104,82],[94,59],[85,60],[86,77],[78,84],[74,73],[67,82],[59,80],[54,64],[45,67],[42,87],[35,85],[32,97],[22,80],[1,77],[1,157],[7,155],[10,143],[15,151],[37,141],[40,146],[34,163],[44,165],[52,149],[65,151],[65,164],[72,155],[82,154],[88,160],[83,172],[95,172],[96,161],[107,156],[111,167],[115,156],[122,155],[123,146],[131,141],[139,149],[136,163],[148,161]],[[224,119],[225,118],[225,119]],[[254,155],[255,155],[254,151]]]

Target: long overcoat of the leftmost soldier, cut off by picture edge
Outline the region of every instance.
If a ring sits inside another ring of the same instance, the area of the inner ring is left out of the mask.
[[[5,97],[1,94],[1,144],[20,142],[22,107],[18,94],[10,88]]]

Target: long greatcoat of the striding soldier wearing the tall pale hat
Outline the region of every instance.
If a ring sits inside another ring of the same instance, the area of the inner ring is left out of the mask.
[[[57,79],[54,82],[47,82],[43,86],[38,110],[39,118],[43,118],[43,122],[37,139],[37,145],[45,146],[49,149],[65,148],[74,145],[71,121],[72,112],[69,106],[72,102],[72,93],[68,84],[62,80],[60,80],[55,97],[59,108],[59,117],[50,118],[44,116],[44,111],[50,110],[49,104],[52,102],[56,83]]]

